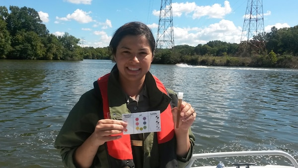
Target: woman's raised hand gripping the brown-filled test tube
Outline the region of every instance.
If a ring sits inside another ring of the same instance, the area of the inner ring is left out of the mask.
[[[173,121],[176,123],[178,108],[174,107],[172,109]],[[195,109],[185,101],[182,101],[180,108],[180,121],[179,130],[188,131],[189,127],[193,124],[196,119]]]

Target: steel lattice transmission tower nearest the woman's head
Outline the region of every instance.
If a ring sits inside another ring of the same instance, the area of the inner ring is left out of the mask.
[[[155,48],[174,47],[172,0],[161,0]]]

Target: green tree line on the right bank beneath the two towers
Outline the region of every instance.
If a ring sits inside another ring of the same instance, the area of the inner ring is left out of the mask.
[[[153,63],[298,68],[298,25],[272,27],[271,32],[240,44],[215,40],[196,47],[179,45],[173,50],[158,49]]]

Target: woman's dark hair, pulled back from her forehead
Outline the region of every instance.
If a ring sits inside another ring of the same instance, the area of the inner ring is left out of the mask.
[[[151,32],[151,29],[142,22],[129,22],[124,24],[123,26],[119,27],[115,32],[111,39],[109,50],[111,51],[114,59],[114,55],[116,55],[117,46],[119,42],[127,35],[144,35],[150,45],[152,55],[155,49],[155,39]]]

